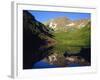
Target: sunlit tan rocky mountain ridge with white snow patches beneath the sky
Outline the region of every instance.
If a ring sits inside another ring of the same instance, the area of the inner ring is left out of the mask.
[[[86,24],[88,24],[88,22],[90,22],[89,19],[70,20],[67,17],[57,17],[44,22],[44,25],[48,26],[56,32],[66,32],[67,30],[80,29],[81,27],[84,27]]]

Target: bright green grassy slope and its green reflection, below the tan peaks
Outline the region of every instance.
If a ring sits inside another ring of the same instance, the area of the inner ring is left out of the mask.
[[[78,53],[82,47],[90,46],[90,27],[85,26],[67,32],[55,32],[54,39],[57,41],[54,51],[58,53],[64,53],[65,51]]]

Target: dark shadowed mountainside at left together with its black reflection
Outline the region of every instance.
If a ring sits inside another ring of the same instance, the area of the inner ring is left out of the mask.
[[[23,69],[31,69],[33,64],[51,53],[54,44],[52,37],[44,24],[27,10],[23,11]]]

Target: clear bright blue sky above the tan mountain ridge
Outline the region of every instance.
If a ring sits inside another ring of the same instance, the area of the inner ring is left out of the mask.
[[[57,17],[67,17],[70,20],[79,20],[79,19],[90,19],[90,13],[76,13],[76,12],[54,12],[54,11],[34,11],[29,10],[29,12],[35,16],[36,20],[40,22],[46,22],[50,19]]]

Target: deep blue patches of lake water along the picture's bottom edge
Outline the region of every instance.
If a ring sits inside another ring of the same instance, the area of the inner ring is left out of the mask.
[[[69,64],[69,65],[66,65],[67,67],[78,67],[80,66],[79,64]],[[35,63],[33,65],[33,68],[56,68],[56,67],[60,67],[60,66],[56,66],[56,65],[53,65],[53,64],[48,64],[47,62],[44,62],[44,61],[39,61],[37,63]]]

